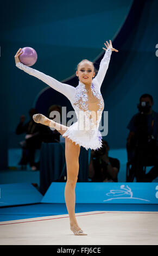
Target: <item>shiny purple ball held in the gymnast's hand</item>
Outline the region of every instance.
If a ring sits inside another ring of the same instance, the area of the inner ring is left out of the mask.
[[[26,66],[33,66],[37,60],[37,53],[31,47],[22,48],[22,54],[20,54],[19,59],[20,62]]]

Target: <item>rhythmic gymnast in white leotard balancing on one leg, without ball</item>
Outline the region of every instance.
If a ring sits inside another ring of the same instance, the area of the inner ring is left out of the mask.
[[[67,169],[67,181],[65,186],[65,202],[69,215],[70,229],[74,235],[87,235],[81,230],[75,217],[75,185],[79,172],[79,154],[80,146],[86,150],[97,150],[102,147],[102,135],[98,130],[102,112],[104,109],[104,100],[100,93],[100,87],[108,70],[111,52],[118,52],[106,41],[106,48],[103,59],[100,62],[98,74],[95,76],[94,65],[90,60],[83,59],[77,66],[76,76],[79,78],[77,87],[61,83],[53,77],[30,68],[20,62],[21,48],[15,55],[17,68],[35,76],[48,84],[48,86],[64,94],[71,102],[77,115],[78,121],[71,126],[65,126],[45,117],[42,114],[35,114],[33,119],[36,123],[47,125],[58,130],[65,137],[65,159]],[[83,118],[84,117],[84,118]],[[87,122],[88,121],[88,122]],[[87,125],[88,124],[88,125]],[[88,129],[87,129],[88,128]]]

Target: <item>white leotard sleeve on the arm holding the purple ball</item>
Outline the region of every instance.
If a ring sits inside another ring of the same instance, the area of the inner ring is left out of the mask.
[[[66,83],[61,83],[55,80],[53,77],[45,75],[36,69],[30,68],[29,66],[26,66],[21,62],[17,62],[16,66],[17,68],[27,72],[29,75],[39,78],[41,81],[48,84],[48,86],[52,87],[58,92],[64,94],[70,101],[73,100],[75,94],[75,88],[73,86],[70,86]]]

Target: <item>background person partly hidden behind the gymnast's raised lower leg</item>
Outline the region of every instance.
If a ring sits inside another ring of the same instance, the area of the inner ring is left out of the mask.
[[[49,107],[48,118],[53,120],[56,117],[54,111],[59,112],[60,120],[61,120],[61,106],[60,105],[52,105]],[[58,120],[58,123],[60,123],[60,120]],[[50,129],[50,127],[46,126],[46,125],[42,126],[41,137],[42,137],[42,142],[45,142],[45,143],[60,142],[60,133],[55,129]]]

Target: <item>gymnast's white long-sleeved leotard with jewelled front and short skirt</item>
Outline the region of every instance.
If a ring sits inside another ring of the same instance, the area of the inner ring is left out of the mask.
[[[61,83],[53,77],[43,74],[42,72],[30,68],[21,62],[16,64],[17,68],[22,69],[31,76],[35,76],[48,84],[48,86],[64,94],[71,102],[72,107],[77,115],[77,122],[68,127],[62,135],[72,139],[75,144],[79,144],[86,149],[99,149],[102,147],[102,135],[98,130],[102,112],[104,109],[104,100],[100,93],[100,87],[108,70],[111,57],[111,49],[106,50],[103,59],[100,62],[98,74],[92,80],[91,90],[94,100],[89,101],[85,84],[79,82],[77,87]]]

